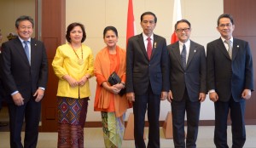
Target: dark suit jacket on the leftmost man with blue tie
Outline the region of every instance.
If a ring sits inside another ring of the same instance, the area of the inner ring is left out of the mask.
[[[13,102],[10,94],[18,90],[27,102],[38,87],[46,88],[48,62],[44,43],[31,39],[31,65],[19,37],[3,43],[2,48],[1,73],[9,96],[7,101]]]

